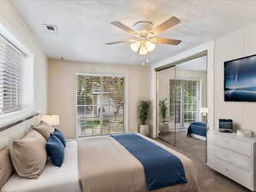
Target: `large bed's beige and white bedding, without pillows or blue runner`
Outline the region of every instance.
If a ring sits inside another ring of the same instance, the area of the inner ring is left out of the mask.
[[[0,138],[3,132],[0,132]],[[139,137],[143,137],[137,134]],[[187,183],[154,192],[200,192],[198,175],[192,161],[172,148],[143,137],[182,162]],[[1,147],[1,146],[0,146]],[[108,148],[108,150],[106,150]],[[150,148],[148,148],[150,150]],[[154,155],[154,154],[152,154]],[[147,192],[142,163],[122,144],[110,136],[80,138],[67,143],[61,167],[48,162],[38,179],[14,174],[1,192]]]

